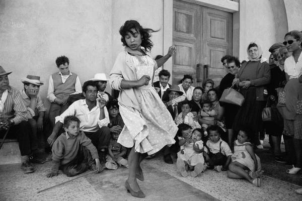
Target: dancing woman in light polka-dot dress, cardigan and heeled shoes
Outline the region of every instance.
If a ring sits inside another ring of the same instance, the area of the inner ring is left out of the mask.
[[[132,148],[129,157],[129,176],[125,188],[132,196],[144,197],[136,178],[144,180],[140,162],[148,154],[154,154],[166,145],[175,143],[177,126],[152,86],[154,71],[162,66],[175,52],[175,46],[168,54],[153,60],[149,50],[152,29],[144,29],[137,21],[126,21],[120,28],[121,41],[125,50],[118,54],[110,72],[110,86],[120,90],[118,102],[120,115],[125,126],[118,143]]]

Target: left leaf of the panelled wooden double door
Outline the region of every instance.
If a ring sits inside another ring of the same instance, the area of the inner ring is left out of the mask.
[[[173,57],[172,82],[178,84],[184,74],[196,74],[200,59],[200,8],[174,1],[173,16],[173,43],[177,49]]]

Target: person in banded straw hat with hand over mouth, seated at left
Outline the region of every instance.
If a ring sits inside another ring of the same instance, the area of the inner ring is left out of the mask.
[[[41,96],[38,94],[40,86],[43,82],[40,81],[39,76],[27,75],[21,79],[24,84],[22,90],[22,98],[27,108],[27,119],[31,126],[31,149],[33,154],[38,153],[38,136],[37,133],[43,131],[43,120],[46,109],[43,106]],[[38,161],[37,161],[38,162]],[[42,161],[40,161],[42,163]]]

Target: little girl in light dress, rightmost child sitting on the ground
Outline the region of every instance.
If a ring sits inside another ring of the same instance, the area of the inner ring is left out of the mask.
[[[253,185],[260,187],[260,158],[254,153],[250,142],[251,135],[248,129],[239,131],[227,175],[234,179],[245,178]]]

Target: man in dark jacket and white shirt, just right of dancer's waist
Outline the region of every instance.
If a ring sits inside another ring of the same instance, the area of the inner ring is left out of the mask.
[[[168,83],[170,76],[171,74],[168,70],[161,70],[159,72],[160,80],[153,83],[153,86],[158,88],[158,94],[160,95],[164,103],[169,101],[169,95],[166,91],[171,87],[171,84]]]

